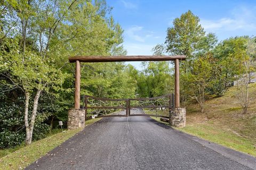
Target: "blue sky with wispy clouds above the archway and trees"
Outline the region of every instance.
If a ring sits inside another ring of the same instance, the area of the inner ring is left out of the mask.
[[[124,29],[127,55],[152,55],[151,49],[165,41],[174,18],[191,10],[206,32],[219,40],[256,35],[256,1],[136,1],[107,0],[112,15]],[[139,68],[138,62],[133,62]]]

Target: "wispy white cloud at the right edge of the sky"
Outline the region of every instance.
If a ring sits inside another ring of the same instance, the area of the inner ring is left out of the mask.
[[[234,8],[230,17],[218,20],[202,19],[201,24],[206,31],[253,31],[256,29],[256,8]]]

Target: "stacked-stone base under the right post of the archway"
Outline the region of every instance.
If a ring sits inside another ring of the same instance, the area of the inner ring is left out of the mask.
[[[185,107],[175,107],[170,108],[169,112],[169,123],[171,126],[177,128],[184,128],[186,126],[186,108]]]

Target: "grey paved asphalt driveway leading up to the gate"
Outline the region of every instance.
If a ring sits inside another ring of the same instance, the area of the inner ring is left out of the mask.
[[[256,169],[256,158],[150,117],[108,117],[26,169]]]

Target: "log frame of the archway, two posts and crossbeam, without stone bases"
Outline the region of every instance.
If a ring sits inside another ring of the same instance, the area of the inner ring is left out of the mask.
[[[80,108],[80,82],[81,82],[81,62],[99,63],[99,62],[134,62],[134,61],[174,61],[175,63],[175,107],[180,107],[180,78],[179,78],[179,60],[185,60],[184,55],[174,56],[75,56],[69,57],[70,63],[76,63],[75,80],[75,109]]]

